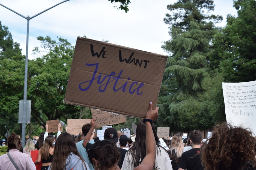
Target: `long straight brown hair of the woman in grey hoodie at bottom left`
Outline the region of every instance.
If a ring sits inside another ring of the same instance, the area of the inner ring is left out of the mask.
[[[66,159],[71,152],[73,152],[75,155],[80,157],[80,159],[82,159],[82,162],[86,169],[84,159],[81,157],[81,155],[77,151],[76,143],[73,137],[67,132],[61,133],[56,140],[51,169],[63,170],[63,165],[65,165],[65,169],[66,169]]]

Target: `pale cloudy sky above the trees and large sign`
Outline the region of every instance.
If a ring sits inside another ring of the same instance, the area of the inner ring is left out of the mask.
[[[1,4],[30,17],[59,2],[61,0],[0,0]],[[28,58],[35,58],[32,50],[40,46],[36,37],[47,35],[52,39],[65,38],[73,45],[77,36],[86,35],[94,40],[109,40],[113,44],[168,55],[161,48],[163,41],[171,38],[169,25],[163,19],[169,13],[166,6],[174,2],[176,0],[131,0],[125,13],[108,0],[70,0],[30,20]],[[214,4],[213,13],[224,18],[218,26],[223,27],[227,14],[236,15],[233,0],[216,0]],[[0,6],[0,21],[9,27],[13,40],[20,43],[25,55],[26,19]]]

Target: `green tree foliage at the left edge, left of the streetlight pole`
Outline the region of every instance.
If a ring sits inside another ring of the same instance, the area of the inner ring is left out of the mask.
[[[20,134],[19,100],[23,98],[25,56],[0,21],[0,134],[7,129]]]

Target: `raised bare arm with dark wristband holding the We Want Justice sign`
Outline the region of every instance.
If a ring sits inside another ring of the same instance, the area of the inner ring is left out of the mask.
[[[152,102],[149,104],[149,110],[146,114],[146,119],[151,119],[153,122],[158,118],[158,107],[155,110],[152,109]],[[150,122],[146,124],[146,157],[141,162],[140,166],[134,168],[134,170],[152,170],[156,160],[156,140],[152,130]]]

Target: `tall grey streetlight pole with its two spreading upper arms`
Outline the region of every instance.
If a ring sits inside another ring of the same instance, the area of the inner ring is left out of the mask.
[[[67,2],[67,1],[70,1],[70,0],[65,0],[65,1],[62,1],[42,12],[39,12],[38,14],[32,16],[32,17],[25,17],[24,15],[21,15],[20,13],[8,8],[7,6],[4,6],[3,4],[0,4],[1,6],[3,6],[4,8],[20,15],[21,17],[27,19],[28,23],[27,23],[27,43],[26,43],[26,59],[25,59],[25,78],[24,78],[24,93],[23,93],[23,116],[22,116],[22,132],[21,132],[21,141],[22,141],[22,147],[24,148],[25,146],[25,133],[26,133],[26,117],[27,117],[27,84],[28,84],[28,32],[29,32],[29,20],[32,19],[32,18],[35,18],[36,16],[44,13],[45,11],[48,11],[52,8],[54,8],[55,6],[59,5],[59,4],[62,4],[64,2]]]

